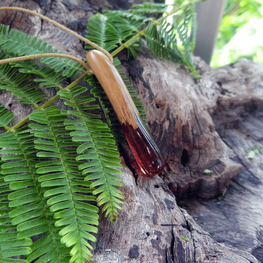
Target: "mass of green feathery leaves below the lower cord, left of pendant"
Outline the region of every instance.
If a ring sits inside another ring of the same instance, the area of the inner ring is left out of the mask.
[[[6,28],[1,26],[2,32]],[[2,38],[6,39],[6,34]],[[2,59],[13,55],[5,49],[12,40],[8,43],[1,46]],[[53,98],[44,103],[46,96],[32,85],[32,74],[39,75],[34,79],[39,85],[58,87],[56,97],[73,110],[46,108]],[[102,212],[111,222],[122,210],[124,197],[116,188],[122,186],[118,176],[121,172],[116,169],[122,166],[110,128],[100,115],[89,113],[99,106],[90,105],[95,99],[86,94],[87,88],[62,88],[62,75],[62,71],[39,67],[32,61],[0,66],[0,88],[11,91],[20,103],[36,108],[11,129],[8,124],[13,113],[0,105],[1,127],[7,130],[0,135],[3,262],[10,262],[9,257],[16,255],[25,255],[26,260],[14,262],[91,261],[97,206],[102,205]],[[19,128],[28,119],[32,123]],[[14,232],[6,232],[9,230]],[[41,237],[32,243],[30,238],[39,234]]]

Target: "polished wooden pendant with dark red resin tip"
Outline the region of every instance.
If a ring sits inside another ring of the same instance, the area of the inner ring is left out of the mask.
[[[159,174],[164,160],[150,132],[141,119],[119,72],[101,51],[92,50],[87,62],[100,82],[120,121],[131,152],[141,169],[140,175]]]

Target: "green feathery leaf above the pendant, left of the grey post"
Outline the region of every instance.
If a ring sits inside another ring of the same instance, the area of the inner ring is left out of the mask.
[[[158,20],[149,16],[156,13],[167,15]],[[169,15],[172,22],[167,20]],[[191,59],[195,25],[194,4],[174,7],[168,14],[165,4],[144,3],[134,5],[130,10],[107,10],[103,15],[94,15],[89,19],[86,37],[107,51],[117,46],[117,51],[127,48],[128,54],[134,57],[144,38],[154,56],[183,63],[193,74],[198,75]]]

